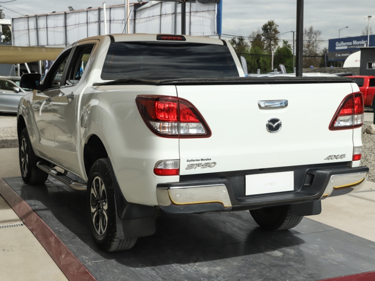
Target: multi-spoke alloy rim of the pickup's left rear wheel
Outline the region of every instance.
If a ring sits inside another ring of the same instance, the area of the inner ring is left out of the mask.
[[[108,224],[107,193],[103,180],[96,176],[91,184],[90,207],[94,228],[99,236],[103,236]]]

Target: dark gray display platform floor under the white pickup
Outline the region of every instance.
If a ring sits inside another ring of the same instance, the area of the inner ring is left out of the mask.
[[[84,191],[51,177],[38,186],[4,180],[98,281],[320,280],[375,271],[374,242],[308,218],[292,230],[268,232],[248,211],[161,213],[153,236],[105,253],[91,238]]]

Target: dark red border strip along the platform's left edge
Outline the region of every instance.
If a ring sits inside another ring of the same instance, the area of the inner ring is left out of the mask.
[[[1,178],[0,194],[30,229],[69,281],[96,281],[38,214]]]

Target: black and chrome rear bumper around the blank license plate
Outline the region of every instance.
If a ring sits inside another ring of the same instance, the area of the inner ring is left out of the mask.
[[[159,183],[157,201],[160,209],[169,213],[240,211],[298,204],[354,192],[365,184],[369,171],[367,167],[347,166],[299,168],[295,171],[294,191],[244,196],[245,176],[228,175]]]

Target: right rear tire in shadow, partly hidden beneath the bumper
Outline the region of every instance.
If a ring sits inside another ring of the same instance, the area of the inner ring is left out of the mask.
[[[250,213],[255,222],[267,230],[286,230],[297,226],[303,218],[293,215],[291,209],[291,205],[282,205],[250,210]]]

